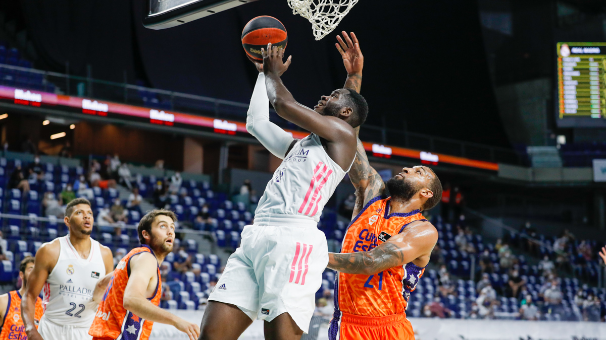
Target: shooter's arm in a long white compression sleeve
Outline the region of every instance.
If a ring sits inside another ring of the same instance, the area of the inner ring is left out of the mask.
[[[259,71],[259,76],[257,77],[255,90],[253,90],[253,97],[250,99],[250,106],[248,107],[246,129],[251,135],[255,136],[271,154],[279,159],[284,159],[296,140],[278,125],[270,122],[269,99],[267,99],[267,90],[265,89],[263,64],[259,64],[254,60],[251,61]]]

